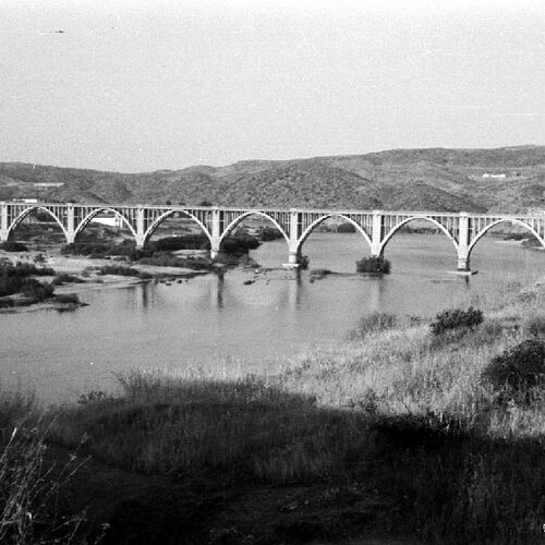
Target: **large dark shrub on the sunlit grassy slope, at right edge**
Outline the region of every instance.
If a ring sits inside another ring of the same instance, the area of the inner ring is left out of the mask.
[[[494,358],[482,377],[495,389],[523,390],[545,378],[545,343],[528,339]]]

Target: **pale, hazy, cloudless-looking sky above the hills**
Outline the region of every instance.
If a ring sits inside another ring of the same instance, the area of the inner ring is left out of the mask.
[[[545,144],[544,92],[542,0],[0,0],[1,161]]]

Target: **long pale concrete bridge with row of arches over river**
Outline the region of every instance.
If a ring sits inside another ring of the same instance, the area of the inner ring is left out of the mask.
[[[137,247],[144,247],[154,231],[174,214],[195,221],[210,241],[210,256],[220,251],[225,239],[250,216],[270,221],[283,235],[288,245],[288,265],[296,267],[305,240],[313,230],[331,217],[352,223],[365,239],[372,256],[382,256],[396,232],[414,220],[433,223],[452,243],[458,270],[470,271],[470,256],[479,240],[493,227],[507,222],[520,226],[545,246],[545,214],[471,214],[408,210],[328,210],[280,208],[231,208],[207,206],[96,205],[59,203],[0,203],[0,241],[7,241],[12,231],[34,211],[51,216],[59,225],[68,243],[98,215],[108,213],[120,219],[131,231]]]

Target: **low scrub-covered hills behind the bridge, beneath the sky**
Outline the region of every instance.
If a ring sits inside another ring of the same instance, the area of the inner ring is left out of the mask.
[[[545,146],[391,149],[143,173],[0,162],[0,199],[17,197],[524,213],[545,210]]]

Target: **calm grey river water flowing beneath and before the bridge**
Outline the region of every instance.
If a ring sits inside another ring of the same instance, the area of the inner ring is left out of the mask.
[[[358,235],[314,233],[304,252],[311,268],[353,272],[368,254]],[[279,267],[287,245],[262,245],[252,256]],[[305,348],[341,340],[373,311],[432,315],[469,295],[530,283],[545,271],[545,252],[484,238],[472,255],[480,274],[469,280],[443,235],[399,234],[386,249],[392,274],[326,277],[311,282],[291,271],[232,270],[182,283],[150,283],[83,293],[89,306],[73,313],[0,315],[0,385],[33,388],[44,400],[72,400],[116,385],[131,368],[215,368],[263,372]],[[244,286],[244,281],[255,282]]]

